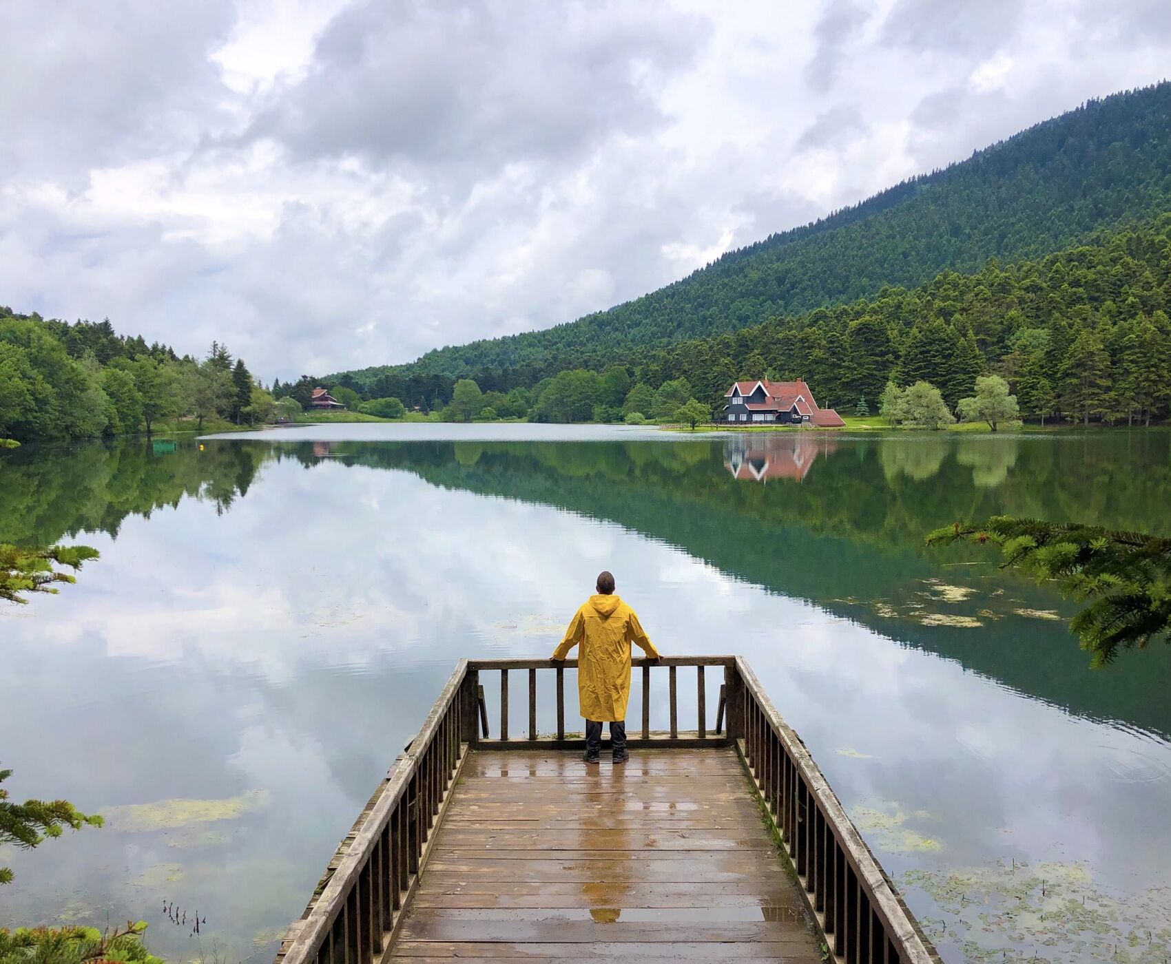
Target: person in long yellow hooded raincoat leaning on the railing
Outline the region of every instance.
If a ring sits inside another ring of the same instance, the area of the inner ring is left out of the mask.
[[[577,696],[586,717],[586,763],[597,763],[602,753],[602,723],[610,724],[614,762],[625,763],[626,703],[630,700],[630,643],[636,642],[651,659],[663,659],[648,639],[635,611],[614,594],[614,577],[597,577],[597,594],[574,614],[566,638],[554,650],[555,662],[577,650]]]

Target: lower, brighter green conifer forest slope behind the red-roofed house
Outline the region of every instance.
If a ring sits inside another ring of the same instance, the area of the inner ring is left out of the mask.
[[[974,274],[941,271],[915,289],[884,287],[734,333],[631,346],[621,365],[566,369],[533,391],[506,393],[504,374],[518,370],[482,372],[477,381],[480,404],[498,414],[615,421],[630,412],[670,419],[691,395],[718,411],[733,379],[761,377],[803,378],[822,406],[852,409],[865,399],[870,411],[888,381],[927,381],[954,408],[991,372],[1008,380],[1026,418],[1149,422],[1171,407],[1169,314],[1165,214],[1034,261],[992,259]],[[451,376],[392,370],[364,387],[377,398],[452,407]]]

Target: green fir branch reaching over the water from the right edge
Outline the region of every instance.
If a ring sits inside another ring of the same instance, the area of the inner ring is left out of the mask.
[[[1102,667],[1119,649],[1143,649],[1171,631],[1171,538],[1097,525],[992,516],[957,522],[927,535],[927,545],[971,542],[1000,546],[1001,569],[1055,581],[1090,600],[1069,628]]]

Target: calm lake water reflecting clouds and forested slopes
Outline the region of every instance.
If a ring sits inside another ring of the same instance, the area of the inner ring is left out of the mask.
[[[0,763],[108,815],[0,852],[0,925],[141,917],[169,957],[268,959],[454,661],[547,655],[608,567],[664,652],[748,656],[949,960],[1171,952],[1171,649],[1090,672],[1057,594],[922,548],[995,512],[1171,533],[1171,434],[163,448],[0,460],[0,539],[102,553],[0,611]]]

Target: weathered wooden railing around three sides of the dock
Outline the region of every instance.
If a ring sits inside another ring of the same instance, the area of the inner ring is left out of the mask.
[[[423,728],[390,767],[338,847],[301,920],[289,928],[276,964],[374,964],[398,934],[426,867],[434,829],[468,750],[576,749],[566,730],[564,670],[576,660],[460,660]],[[634,660],[642,689],[641,732],[630,745],[735,746],[760,793],[830,951],[845,964],[929,964],[939,958],[895,893],[801,738],[738,656]],[[714,727],[707,728],[706,674],[723,667]],[[694,669],[696,727],[679,727],[679,669]],[[665,731],[650,728],[651,674],[667,674]],[[528,729],[509,735],[509,676],[528,677]],[[500,727],[488,736],[481,674],[500,674]],[[537,680],[552,676],[556,729],[537,727]],[[574,709],[576,716],[576,708]],[[726,719],[726,729],[724,722]]]

